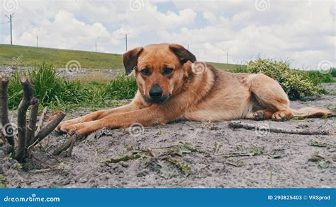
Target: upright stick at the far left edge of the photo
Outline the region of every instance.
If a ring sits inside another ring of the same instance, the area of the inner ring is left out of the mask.
[[[13,148],[15,147],[14,142],[14,130],[13,126],[11,126],[11,123],[9,123],[9,111],[8,111],[8,86],[9,86],[9,80],[7,78],[1,78],[1,105],[0,105],[0,111],[1,111],[1,124],[2,128],[5,131],[4,136],[6,137],[7,141]]]

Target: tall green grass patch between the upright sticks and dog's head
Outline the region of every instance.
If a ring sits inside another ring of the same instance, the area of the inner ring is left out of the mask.
[[[9,82],[9,108],[15,110],[23,97],[20,77],[33,80],[35,97],[40,104],[57,110],[80,107],[99,108],[113,104],[113,100],[132,98],[137,90],[135,78],[123,75],[103,83],[81,83],[60,78],[52,64],[40,64],[30,72],[16,72]]]

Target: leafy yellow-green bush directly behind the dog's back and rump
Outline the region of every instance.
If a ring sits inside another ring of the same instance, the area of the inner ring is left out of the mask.
[[[247,64],[249,73],[264,73],[278,81],[291,100],[300,100],[307,96],[317,96],[323,89],[313,83],[303,73],[294,71],[283,61],[257,59]]]

